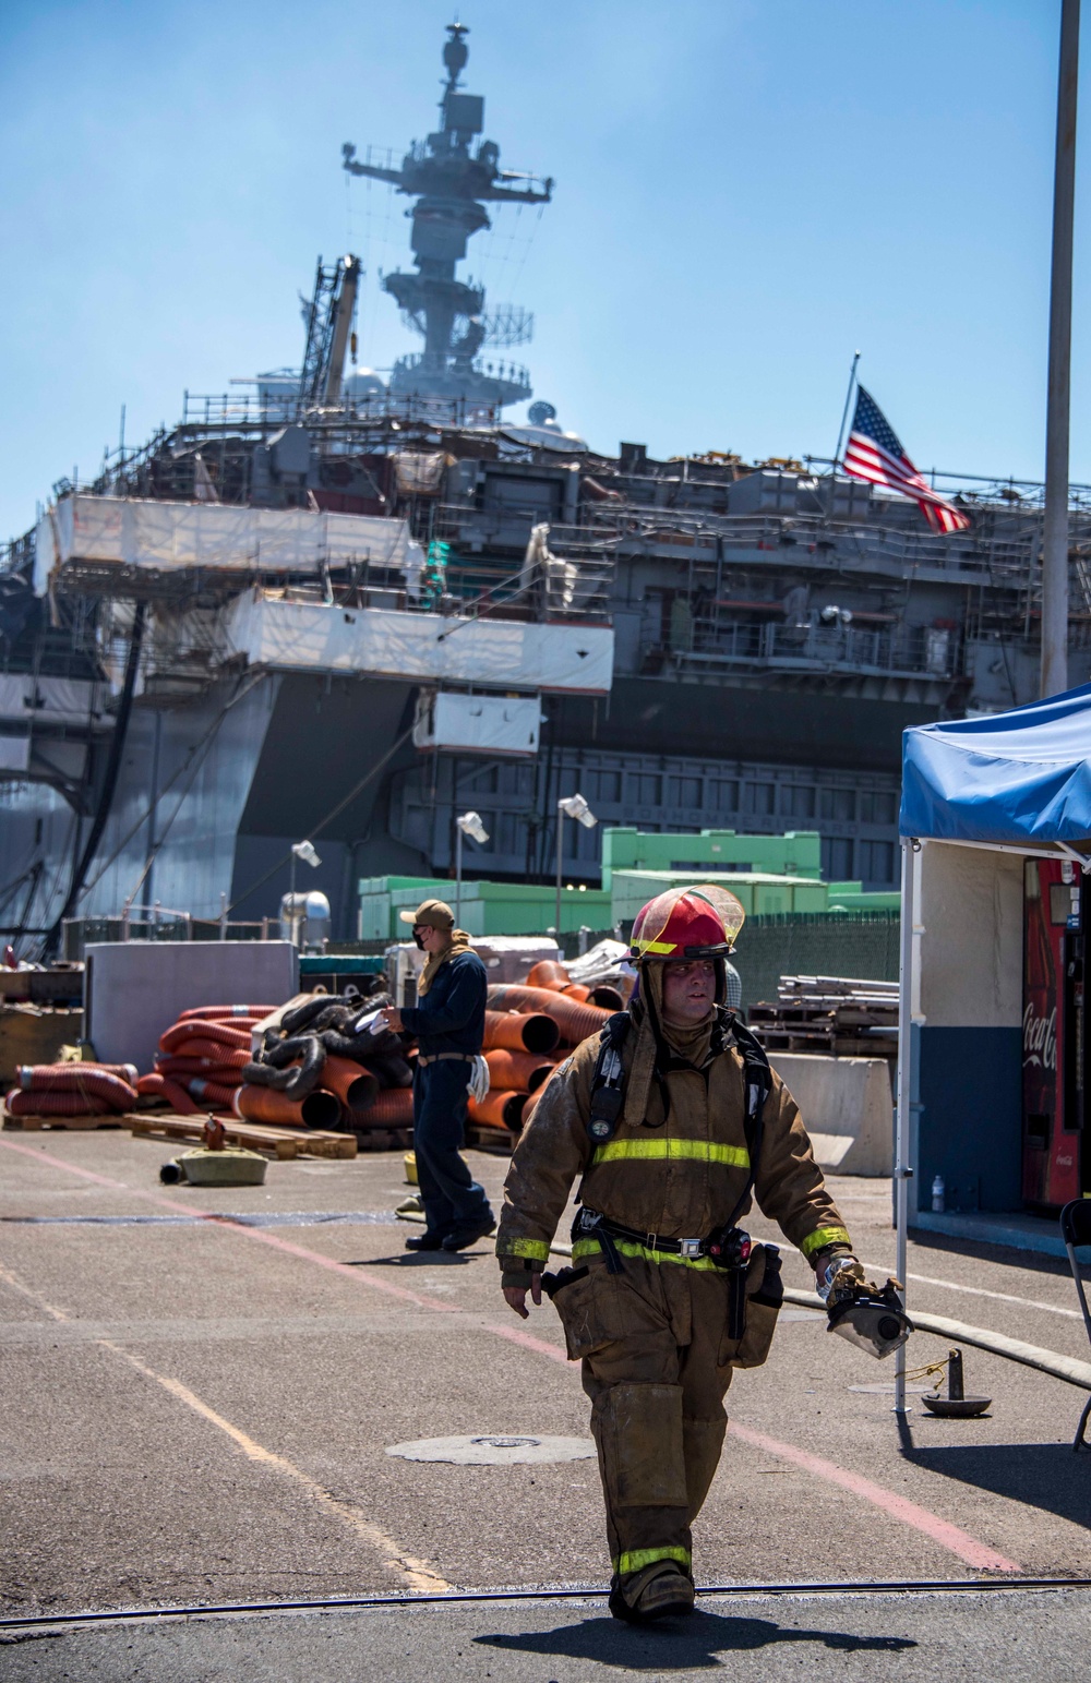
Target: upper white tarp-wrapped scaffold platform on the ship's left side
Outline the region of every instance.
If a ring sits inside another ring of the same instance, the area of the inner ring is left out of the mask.
[[[406,572],[419,545],[404,520],[311,508],[236,508],[126,496],[62,496],[37,525],[34,587],[44,594],[54,567],[221,567],[242,572],[318,572],[370,562]]]

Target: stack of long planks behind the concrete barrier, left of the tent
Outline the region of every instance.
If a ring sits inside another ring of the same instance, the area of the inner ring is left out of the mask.
[[[781,976],[774,1001],[748,1013],[766,1052],[897,1057],[897,983]]]

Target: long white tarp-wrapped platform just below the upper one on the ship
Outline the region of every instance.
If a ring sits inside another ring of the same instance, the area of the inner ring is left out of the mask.
[[[606,695],[613,682],[609,626],[530,624],[286,603],[246,591],[226,611],[231,643],[251,666],[446,680],[485,688]]]

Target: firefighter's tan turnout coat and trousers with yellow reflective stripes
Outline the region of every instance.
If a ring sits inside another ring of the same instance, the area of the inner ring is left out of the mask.
[[[623,1062],[631,1067],[636,1033]],[[726,1335],[727,1276],[710,1257],[658,1250],[655,1237],[700,1239],[732,1217],[749,1178],[744,1064],[717,1038],[695,1069],[672,1059],[670,1114],[652,1084],[647,1119],[625,1119],[613,1138],[588,1134],[599,1037],[584,1040],[557,1069],[527,1124],[505,1185],[497,1254],[503,1284],[527,1284],[544,1269],[549,1244],[579,1181],[589,1208],[645,1234],[615,1240],[611,1272],[601,1240],[572,1245],[572,1272],[554,1296],[567,1351],[583,1360],[593,1399],[613,1569],[655,1560],[690,1570],[690,1523],[721,1454],[722,1399],[734,1367],[764,1360],[776,1309],[761,1303],[764,1250],[748,1272],[742,1341]],[[631,1109],[631,1107],[630,1107]],[[849,1249],[849,1234],[825,1190],[795,1099],[773,1075],[763,1109],[754,1195],[785,1237],[813,1259]],[[736,1220],[744,1225],[749,1200]]]

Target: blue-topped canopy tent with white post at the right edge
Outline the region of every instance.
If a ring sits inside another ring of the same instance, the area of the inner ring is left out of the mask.
[[[1091,685],[1009,714],[906,730],[899,830],[902,912],[894,1185],[897,1277],[904,1281],[909,1181],[914,1173],[919,1181],[919,1161],[913,1158],[919,1158],[914,1128],[921,1111],[924,1023],[938,1018],[941,1027],[933,1038],[938,1049],[948,1049],[933,1057],[941,1067],[941,1080],[933,1079],[933,1109],[936,1092],[945,1084],[958,1087],[961,1080],[958,1116],[961,1119],[966,1107],[977,1104],[978,1126],[992,1129],[993,1158],[998,1129],[1007,1128],[1010,1138],[1012,1118],[1020,1116],[1022,860],[1061,857],[1091,872]],[[929,843],[939,847],[931,850]],[[992,879],[983,875],[992,870],[985,860],[970,868],[953,863],[955,848],[1000,855]],[[923,879],[924,853],[938,865],[931,872],[931,892]],[[923,1000],[921,937],[926,929],[938,980],[931,996]],[[961,1015],[958,1003],[951,1003],[960,991],[971,1000]],[[951,1022],[961,1027],[946,1027]],[[924,1195],[923,1187],[919,1193]],[[904,1351],[899,1351],[896,1409],[904,1412]]]

